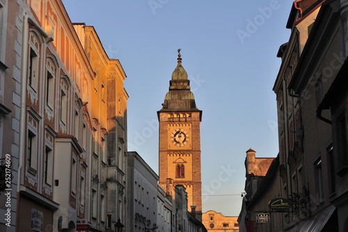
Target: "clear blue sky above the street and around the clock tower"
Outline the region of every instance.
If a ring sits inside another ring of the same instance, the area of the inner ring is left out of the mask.
[[[278,48],[292,1],[63,0],[72,22],[94,26],[127,79],[128,150],[158,173],[158,121],[181,48],[201,123],[203,212],[237,216],[246,150],[276,157]]]

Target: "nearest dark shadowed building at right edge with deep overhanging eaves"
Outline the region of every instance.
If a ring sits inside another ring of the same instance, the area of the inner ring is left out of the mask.
[[[348,229],[347,3],[322,3],[288,86],[301,96],[311,216],[303,227],[313,231]]]

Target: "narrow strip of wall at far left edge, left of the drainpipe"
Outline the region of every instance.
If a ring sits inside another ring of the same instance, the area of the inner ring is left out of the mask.
[[[15,1],[0,1],[0,231],[16,228],[21,65],[17,42],[22,40],[16,27],[18,12]]]

